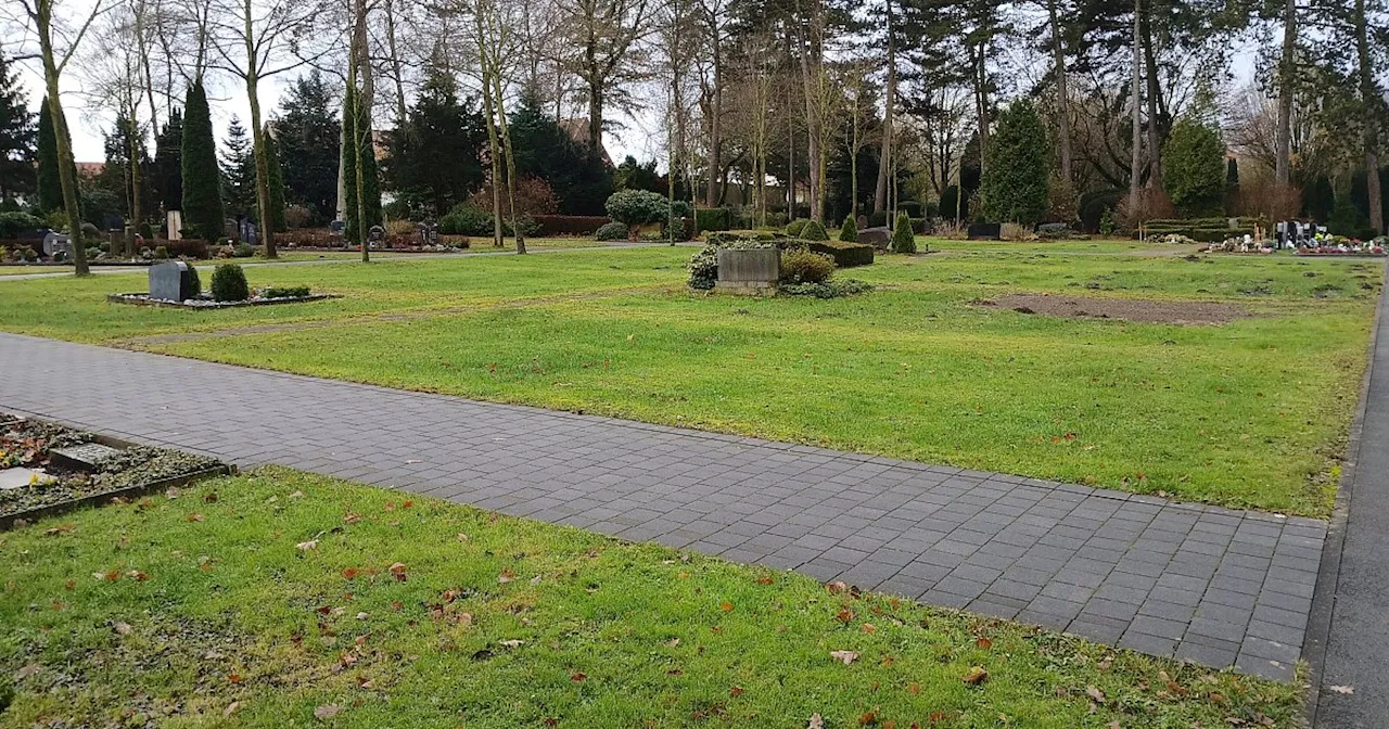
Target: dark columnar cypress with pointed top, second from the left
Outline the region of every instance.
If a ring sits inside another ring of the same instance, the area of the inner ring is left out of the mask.
[[[183,100],[183,228],[194,236],[215,242],[222,237],[222,181],[217,167],[217,143],[213,140],[213,114],[207,92],[199,79],[188,87]]]

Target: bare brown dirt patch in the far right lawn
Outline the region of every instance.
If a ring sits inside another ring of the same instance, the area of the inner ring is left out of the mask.
[[[1011,308],[1068,319],[1125,319],[1153,324],[1225,324],[1251,317],[1236,304],[1214,301],[1157,301],[1153,299],[1101,299],[1095,296],[1008,294],[978,305]]]

